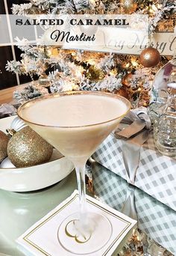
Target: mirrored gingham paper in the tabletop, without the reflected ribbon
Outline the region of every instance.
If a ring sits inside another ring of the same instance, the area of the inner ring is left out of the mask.
[[[176,255],[176,212],[161,204],[122,177],[99,164],[93,165],[95,195],[116,210],[122,211],[128,190],[134,190],[138,227],[169,252]]]

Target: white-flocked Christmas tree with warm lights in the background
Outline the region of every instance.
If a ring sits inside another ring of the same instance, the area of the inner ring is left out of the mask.
[[[13,14],[148,14],[149,33],[175,27],[175,1],[160,0],[31,0],[28,4],[13,4]],[[145,49],[141,55],[66,50],[53,46],[31,46],[19,40],[21,61],[8,61],[7,70],[34,75],[39,81],[14,97],[20,101],[41,94],[69,90],[101,90],[121,94],[131,100],[133,107],[148,106],[154,75],[169,57],[157,49]],[[149,52],[148,52],[149,51]],[[151,52],[150,52],[151,51]],[[148,61],[145,54],[151,54]],[[151,62],[150,62],[151,61]],[[47,90],[45,89],[47,88]]]

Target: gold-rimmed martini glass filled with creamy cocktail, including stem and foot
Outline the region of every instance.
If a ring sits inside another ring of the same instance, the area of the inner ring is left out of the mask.
[[[19,118],[75,165],[80,209],[58,228],[58,240],[69,252],[91,254],[110,240],[110,221],[87,209],[85,165],[130,109],[131,103],[124,97],[95,91],[50,94],[19,107]]]

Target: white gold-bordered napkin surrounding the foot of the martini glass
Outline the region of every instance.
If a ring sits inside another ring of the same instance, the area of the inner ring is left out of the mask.
[[[95,200],[87,195],[87,209],[91,213],[99,213],[103,218],[107,219],[107,227],[101,228],[101,233],[92,236],[95,244],[98,243],[100,237],[102,237],[103,232],[107,232],[107,228],[112,228],[110,239],[104,246],[98,246],[98,250],[91,252],[84,252],[85,243],[76,243],[75,237],[68,237],[64,232],[60,232],[59,227],[64,225],[66,218],[68,218],[72,213],[78,212],[78,191],[72,193],[72,195],[59,204],[54,210],[48,213],[43,219],[35,223],[25,234],[17,240],[21,246],[23,246],[32,255],[48,255],[48,256],[71,256],[76,255],[75,253],[69,252],[68,249],[64,248],[64,243],[60,243],[60,239],[63,241],[64,235],[66,236],[66,243],[70,241],[71,249],[72,245],[75,246],[74,250],[77,251],[76,246],[78,246],[78,255],[91,255],[91,256],[102,256],[113,255],[115,250],[117,251],[119,247],[130,236],[133,228],[135,228],[136,221],[119,213],[117,210],[108,207],[106,204],[102,204],[100,201]],[[64,241],[63,241],[64,242]],[[87,242],[89,243],[89,241]],[[84,253],[83,253],[84,252]],[[91,252],[91,253],[90,253]]]

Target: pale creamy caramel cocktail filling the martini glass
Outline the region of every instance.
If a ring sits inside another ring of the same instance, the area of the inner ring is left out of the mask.
[[[27,103],[19,113],[45,140],[79,164],[91,156],[127,111],[120,99],[74,94]]]

